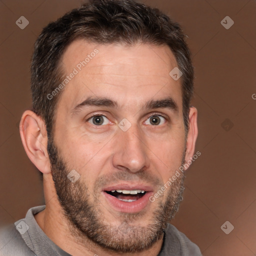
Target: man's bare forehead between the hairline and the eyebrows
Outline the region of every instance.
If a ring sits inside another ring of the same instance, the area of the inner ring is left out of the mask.
[[[73,41],[62,56],[68,83],[59,104],[64,102],[62,106],[68,110],[85,97],[104,96],[123,104],[140,102],[141,105],[145,98],[166,94],[181,101],[180,79],[174,81],[169,75],[176,66],[167,45],[125,46],[79,39]]]

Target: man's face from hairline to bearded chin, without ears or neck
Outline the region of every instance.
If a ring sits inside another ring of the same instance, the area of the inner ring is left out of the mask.
[[[175,58],[167,46],[77,40],[62,62],[75,74],[61,92],[48,146],[70,231],[114,251],[149,248],[183,191],[181,174],[159,192],[185,153],[181,81],[169,75]]]

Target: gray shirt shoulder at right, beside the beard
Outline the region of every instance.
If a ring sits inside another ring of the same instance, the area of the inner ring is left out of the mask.
[[[165,229],[165,241],[166,252],[172,250],[175,255],[180,256],[201,256],[199,247],[190,241],[185,234],[180,232],[172,224],[168,224]],[[177,254],[179,253],[179,254]],[[164,254],[163,254],[164,255]],[[169,255],[169,254],[166,254]]]

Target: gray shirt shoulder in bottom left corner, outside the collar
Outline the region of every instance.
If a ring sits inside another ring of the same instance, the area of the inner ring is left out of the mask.
[[[16,226],[11,224],[0,229],[0,255],[1,256],[34,256],[24,242]]]

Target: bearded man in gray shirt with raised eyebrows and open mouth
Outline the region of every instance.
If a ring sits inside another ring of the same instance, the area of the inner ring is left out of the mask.
[[[46,206],[4,231],[1,255],[201,255],[168,223],[194,154],[192,89],[184,35],[157,9],[93,0],[48,24],[20,121]]]

